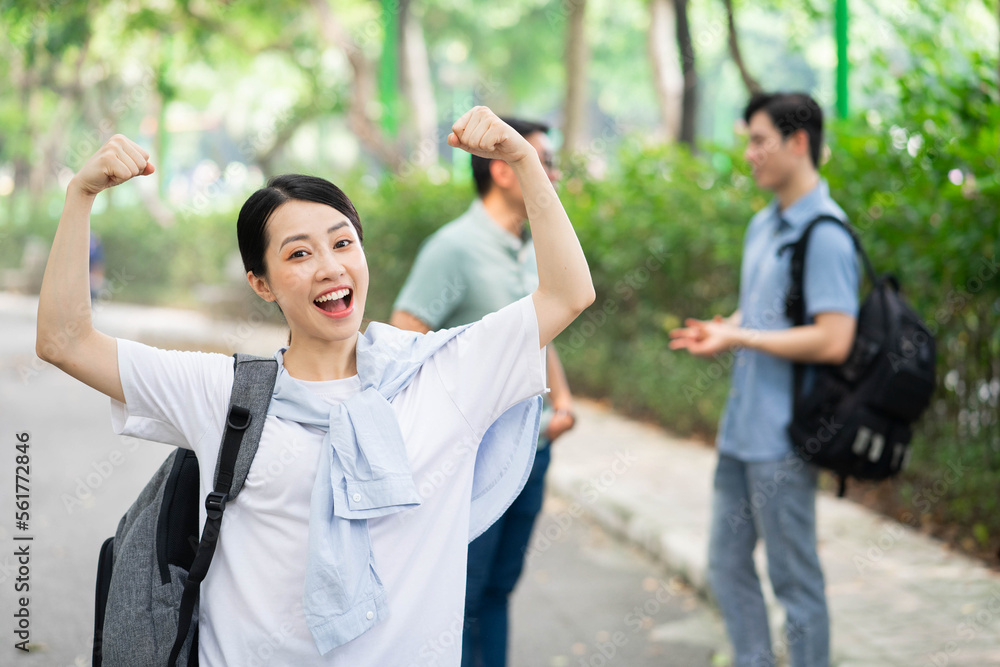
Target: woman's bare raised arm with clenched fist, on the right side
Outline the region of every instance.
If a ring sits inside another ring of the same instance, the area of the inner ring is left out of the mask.
[[[486,107],[475,107],[455,121],[448,144],[511,166],[531,223],[538,262],[538,289],[531,295],[538,338],[547,345],[594,302],[594,283],[573,225],[542,167],[538,153]]]

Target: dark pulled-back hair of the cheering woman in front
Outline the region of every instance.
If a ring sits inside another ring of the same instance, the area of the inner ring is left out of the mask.
[[[275,176],[267,185],[250,195],[236,221],[236,237],[240,244],[243,268],[255,276],[267,275],[264,251],[267,250],[267,221],[274,210],[287,201],[310,201],[326,204],[340,211],[354,225],[358,240],[364,241],[361,220],[354,204],[344,191],[330,181],[317,176],[284,174]]]

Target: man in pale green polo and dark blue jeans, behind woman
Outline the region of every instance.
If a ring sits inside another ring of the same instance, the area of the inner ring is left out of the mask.
[[[548,127],[504,121],[525,137],[555,182]],[[472,157],[479,197],[458,219],[424,241],[396,298],[391,324],[431,331],[467,324],[531,294],[538,286],[528,213],[513,170]],[[507,605],[521,575],[535,517],[542,508],[549,445],[573,427],[572,396],[555,349],[548,348],[549,396],[531,475],[510,508],[469,544],[462,667],[507,664]]]

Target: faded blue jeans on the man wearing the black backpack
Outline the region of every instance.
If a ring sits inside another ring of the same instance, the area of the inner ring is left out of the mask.
[[[786,614],[785,642],[772,649],[753,550],[763,538],[774,595]],[[745,462],[720,455],[715,470],[709,584],[726,621],[735,667],[830,662],[830,620],[816,553],[816,470],[794,454]]]

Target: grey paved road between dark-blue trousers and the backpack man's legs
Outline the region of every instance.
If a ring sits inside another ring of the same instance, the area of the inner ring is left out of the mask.
[[[662,563],[546,500],[511,605],[510,667],[711,667],[722,619]]]

